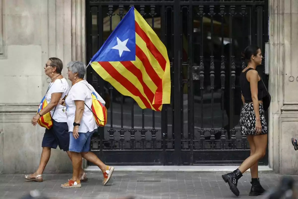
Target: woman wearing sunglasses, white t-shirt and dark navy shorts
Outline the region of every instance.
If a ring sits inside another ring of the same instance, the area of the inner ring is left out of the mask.
[[[46,164],[48,163],[51,155],[51,149],[56,149],[57,146],[63,151],[67,152],[67,155],[71,159],[71,154],[68,150],[69,148],[69,132],[68,126],[66,123],[66,114],[63,110],[63,106],[58,104],[61,96],[65,95],[67,90],[69,89],[69,85],[66,79],[61,75],[63,69],[63,63],[59,58],[52,57],[46,62],[44,66],[45,74],[51,78],[51,82],[46,91],[45,97],[47,101],[47,106],[44,107],[40,112],[38,112],[32,118],[32,125],[35,126],[37,124],[38,119],[50,112],[52,116],[53,126],[50,129],[46,129],[44,133],[44,138],[42,139],[42,152],[40,163],[38,169],[30,174],[25,175],[25,179],[29,181],[42,182],[42,173]],[[83,169],[80,169],[80,175],[82,176],[82,181],[87,181],[86,174]]]

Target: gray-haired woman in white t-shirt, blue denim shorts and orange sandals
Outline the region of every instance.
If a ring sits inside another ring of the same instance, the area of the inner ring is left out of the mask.
[[[59,103],[66,105],[67,124],[69,128],[69,151],[72,154],[72,179],[62,184],[62,188],[81,187],[79,173],[82,157],[97,165],[103,172],[105,185],[114,171],[114,167],[105,165],[99,158],[90,152],[90,140],[97,124],[90,109],[92,105],[91,91],[99,101],[105,104],[103,98],[94,88],[84,80],[86,65],[80,61],[72,61],[68,64],[68,79],[72,82],[67,95],[60,99]]]

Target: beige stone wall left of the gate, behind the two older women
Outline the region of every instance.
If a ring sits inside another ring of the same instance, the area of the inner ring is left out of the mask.
[[[49,57],[85,61],[84,0],[0,0],[0,173],[33,172],[44,128],[31,119],[50,79]],[[45,172],[70,172],[65,152],[52,150]]]

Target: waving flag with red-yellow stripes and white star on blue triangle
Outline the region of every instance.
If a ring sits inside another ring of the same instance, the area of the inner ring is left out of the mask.
[[[162,104],[170,104],[167,49],[134,7],[89,64],[122,95],[134,98],[142,109],[160,111]]]

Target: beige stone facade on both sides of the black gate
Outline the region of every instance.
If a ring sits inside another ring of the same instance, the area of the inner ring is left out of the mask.
[[[44,129],[30,121],[49,83],[44,63],[86,62],[85,10],[84,0],[0,0],[0,173],[38,165]],[[298,0],[269,0],[269,18],[269,166],[298,173]],[[45,172],[71,171],[67,159],[52,150]]]

